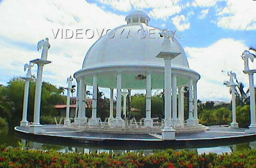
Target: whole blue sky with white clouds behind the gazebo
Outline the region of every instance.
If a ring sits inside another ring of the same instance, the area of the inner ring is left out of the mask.
[[[0,0],[0,84],[23,76],[23,65],[40,57],[37,42],[48,37],[53,63],[45,66],[44,80],[66,86],[97,38],[54,39],[52,29],[112,29],[136,9],[148,13],[150,25],[178,30],[190,68],[201,75],[200,100],[230,99],[221,70],[236,72],[248,86],[240,55],[256,44],[253,0]]]

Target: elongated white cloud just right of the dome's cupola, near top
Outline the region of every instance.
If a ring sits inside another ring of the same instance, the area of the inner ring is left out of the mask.
[[[169,8],[155,8],[149,12],[149,16],[155,19],[166,20],[169,16],[180,13],[181,9],[178,5]]]

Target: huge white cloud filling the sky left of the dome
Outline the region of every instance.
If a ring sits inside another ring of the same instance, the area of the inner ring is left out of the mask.
[[[14,12],[15,11],[15,12]],[[44,80],[57,85],[66,86],[66,78],[82,68],[84,55],[98,37],[87,39],[86,29],[112,29],[126,24],[124,16],[105,12],[95,4],[85,0],[6,0],[0,4],[0,36],[7,39],[1,46],[1,78],[12,78],[23,75],[23,65],[29,60],[39,58],[40,52],[36,44],[45,37],[49,38],[51,48],[48,59],[52,64],[45,66]],[[83,29],[84,39],[56,39],[54,30]],[[98,36],[95,32],[95,36]],[[4,41],[4,40],[3,40]],[[8,41],[8,42],[7,42]],[[21,46],[35,46],[34,50],[25,50],[20,46],[10,45],[18,43]],[[4,73],[5,70],[8,73]],[[7,81],[6,81],[7,82]]]

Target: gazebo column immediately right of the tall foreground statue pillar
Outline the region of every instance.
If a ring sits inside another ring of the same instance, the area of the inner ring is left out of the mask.
[[[172,76],[172,125],[176,126],[177,118],[177,76]]]

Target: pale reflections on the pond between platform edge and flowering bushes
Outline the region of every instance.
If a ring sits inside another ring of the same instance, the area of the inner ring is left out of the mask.
[[[67,147],[67,146],[58,146],[58,145],[49,145],[49,144],[42,144],[39,142],[32,142],[28,140],[21,140],[22,144],[24,146],[27,146],[29,148],[34,148],[38,150],[50,150],[54,149],[57,150],[58,152],[63,152],[63,153],[68,153],[68,152],[76,152],[76,153],[81,153],[81,154],[90,154],[92,152],[96,153],[101,153],[101,152],[112,152],[114,154],[124,154],[127,152],[143,152],[144,155],[150,155],[153,154],[154,151],[160,151],[160,150],[107,150],[107,149],[100,149],[99,147]],[[198,154],[202,153],[216,153],[216,154],[222,154],[222,153],[230,153],[234,151],[240,151],[244,149],[254,149],[256,148],[256,141],[254,142],[248,142],[248,143],[243,143],[243,144],[236,144],[236,145],[228,145],[228,146],[216,146],[216,147],[208,147],[208,148],[186,148],[187,150],[190,151],[195,151]],[[175,149],[175,150],[180,150],[180,149]]]

